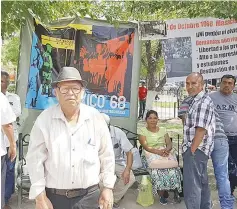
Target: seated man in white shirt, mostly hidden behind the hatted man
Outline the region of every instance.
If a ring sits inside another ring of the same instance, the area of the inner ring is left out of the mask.
[[[101,113],[107,125],[109,126],[112,144],[115,155],[115,174],[117,180],[114,185],[114,208],[119,207],[120,200],[126,194],[129,187],[135,182],[135,176],[132,172],[133,154],[132,144],[129,142],[126,134],[117,127],[110,125],[110,118],[108,115]],[[126,158],[125,159],[125,154]]]

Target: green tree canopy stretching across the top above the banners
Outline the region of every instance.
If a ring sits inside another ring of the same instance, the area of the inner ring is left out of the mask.
[[[236,18],[235,1],[1,1],[2,36],[18,31],[28,9],[44,23],[67,16],[127,20],[166,20],[180,17]]]

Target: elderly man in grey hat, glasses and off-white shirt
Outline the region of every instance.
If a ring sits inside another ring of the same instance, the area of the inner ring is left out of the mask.
[[[27,168],[36,209],[112,207],[111,137],[101,114],[81,103],[85,86],[76,68],[63,67],[52,83],[59,104],[44,110],[32,128]]]

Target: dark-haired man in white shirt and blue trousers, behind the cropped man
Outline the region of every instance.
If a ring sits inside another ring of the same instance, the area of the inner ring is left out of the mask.
[[[9,104],[11,105],[11,108],[13,112],[16,115],[16,118],[18,118],[21,115],[21,101],[20,97],[17,94],[10,93],[7,91],[9,86],[9,74],[6,71],[1,71],[1,92],[7,97]],[[17,123],[13,123],[14,127],[14,138],[17,141],[18,140],[18,131],[17,131]],[[9,149],[9,140],[7,136],[4,136],[5,143],[7,150]],[[6,159],[7,163],[7,173],[6,173],[6,187],[5,187],[5,204],[6,208],[10,208],[8,205],[9,199],[11,198],[11,195],[15,191],[15,163],[16,160],[11,162],[10,158],[7,157]]]

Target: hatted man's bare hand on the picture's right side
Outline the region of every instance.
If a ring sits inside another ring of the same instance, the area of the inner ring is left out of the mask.
[[[103,188],[100,193],[99,205],[101,209],[112,209],[113,208],[113,191],[109,188]]]

